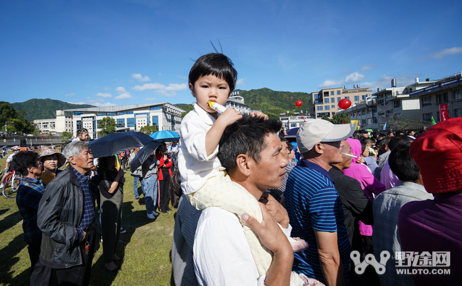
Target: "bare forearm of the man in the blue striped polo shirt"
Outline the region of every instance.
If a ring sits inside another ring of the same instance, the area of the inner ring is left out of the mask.
[[[318,244],[319,263],[326,284],[329,286],[345,285],[343,263],[338,252],[337,232],[314,230]]]

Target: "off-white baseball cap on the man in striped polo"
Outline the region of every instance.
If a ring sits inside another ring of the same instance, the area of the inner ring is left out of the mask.
[[[332,124],[324,119],[313,119],[303,124],[297,132],[297,144],[300,153],[313,149],[319,142],[336,142],[349,138],[356,124]]]

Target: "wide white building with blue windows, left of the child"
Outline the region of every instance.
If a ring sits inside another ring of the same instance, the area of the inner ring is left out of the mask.
[[[99,121],[104,117],[115,120],[116,131],[139,131],[143,126],[155,126],[158,130],[180,132],[181,112],[186,110],[168,102],[117,105],[66,109],[72,111],[73,136],[77,130],[86,128],[88,136],[98,138]]]

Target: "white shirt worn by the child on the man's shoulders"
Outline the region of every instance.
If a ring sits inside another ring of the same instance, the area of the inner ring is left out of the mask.
[[[178,169],[185,195],[199,190],[208,178],[218,174],[218,167],[221,167],[218,146],[209,156],[205,149],[205,136],[214,122],[215,118],[197,103],[181,121]]]

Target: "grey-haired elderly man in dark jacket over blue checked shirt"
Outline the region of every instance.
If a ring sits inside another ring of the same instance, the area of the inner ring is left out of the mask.
[[[89,171],[93,155],[85,141],[67,145],[69,166],[45,189],[37,212],[42,264],[56,269],[59,285],[88,285],[94,254],[94,201]]]

